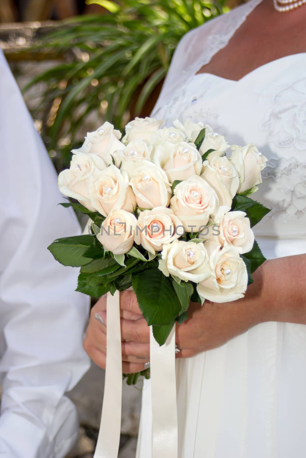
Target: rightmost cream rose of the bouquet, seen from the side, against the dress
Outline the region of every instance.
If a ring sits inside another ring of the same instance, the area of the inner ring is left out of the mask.
[[[229,160],[239,175],[238,192],[247,191],[262,183],[261,170],[266,167],[267,158],[252,143],[245,147],[233,145],[231,150],[233,153]]]

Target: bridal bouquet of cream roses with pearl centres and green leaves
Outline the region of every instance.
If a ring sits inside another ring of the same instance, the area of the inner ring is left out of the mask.
[[[267,159],[231,146],[209,126],[152,118],[125,135],[104,123],[72,150],[59,175],[64,207],[90,218],[89,233],[49,246],[81,267],[77,291],[100,297],[132,287],[156,341],[188,317],[190,300],[242,298],[265,258],[251,227],[269,211],[250,198]],[[76,202],[78,201],[78,202]]]

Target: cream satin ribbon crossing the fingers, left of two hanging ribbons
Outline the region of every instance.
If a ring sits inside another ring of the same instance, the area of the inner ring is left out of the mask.
[[[117,458],[121,430],[122,354],[119,291],[106,298],[106,372],[102,416],[94,458]]]

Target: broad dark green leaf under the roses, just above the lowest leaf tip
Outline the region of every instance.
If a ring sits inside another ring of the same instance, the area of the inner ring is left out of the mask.
[[[155,267],[134,274],[132,282],[139,308],[149,326],[174,322],[182,306],[169,277]]]

